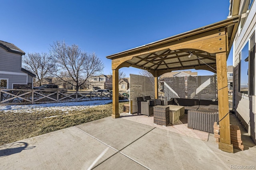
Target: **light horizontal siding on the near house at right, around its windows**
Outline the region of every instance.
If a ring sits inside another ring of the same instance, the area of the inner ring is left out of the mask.
[[[243,4],[244,1],[241,2]],[[242,5],[241,5],[242,6]],[[241,8],[240,6],[240,8]],[[241,9],[240,9],[241,11]],[[233,64],[234,64],[234,74],[233,74],[233,106],[234,111],[245,129],[248,131],[254,142],[256,142],[255,132],[256,132],[256,111],[253,109],[255,105],[253,103],[253,98],[255,96],[250,96],[247,94],[242,94],[239,92],[239,53],[242,51],[244,45],[249,41],[251,35],[254,33],[256,28],[256,2],[254,1],[250,12],[244,22],[242,30],[240,33],[236,33],[236,38],[234,41],[234,53],[233,53]],[[256,63],[254,63],[256,65]],[[255,80],[254,80],[255,81]],[[255,88],[255,87],[254,87]],[[255,95],[255,94],[254,94]]]

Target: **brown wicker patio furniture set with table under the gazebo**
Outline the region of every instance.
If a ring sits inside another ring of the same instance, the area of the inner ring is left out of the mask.
[[[174,124],[188,114],[188,128],[214,133],[214,122],[219,121],[218,101],[172,98],[164,106],[164,101],[150,96],[138,97],[138,114],[154,114],[154,123]]]

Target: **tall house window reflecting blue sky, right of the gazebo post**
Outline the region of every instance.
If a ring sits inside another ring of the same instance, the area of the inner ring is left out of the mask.
[[[247,42],[241,51],[240,60],[240,93],[248,94],[248,58],[249,58],[249,43]]]

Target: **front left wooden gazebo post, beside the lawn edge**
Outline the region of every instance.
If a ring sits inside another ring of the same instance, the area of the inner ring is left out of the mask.
[[[118,68],[112,70],[112,118],[120,117],[119,114],[119,93],[118,93]]]

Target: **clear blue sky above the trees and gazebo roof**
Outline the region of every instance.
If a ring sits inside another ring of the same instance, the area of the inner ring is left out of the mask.
[[[228,8],[229,0],[5,0],[0,40],[25,53],[48,52],[50,44],[64,40],[95,52],[109,74],[106,56],[225,20]],[[232,65],[232,51],[227,64]],[[120,70],[126,76],[139,72]]]

